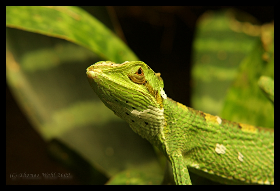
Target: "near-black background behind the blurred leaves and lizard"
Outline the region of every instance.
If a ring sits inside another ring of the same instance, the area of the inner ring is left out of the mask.
[[[82,7],[128,44],[135,54],[164,79],[164,90],[174,100],[190,105],[190,60],[196,20],[208,10],[229,7]],[[232,8],[232,7],[231,7]],[[274,20],[274,7],[235,7],[260,21]],[[110,14],[108,14],[108,12]],[[113,23],[113,24],[112,24]],[[179,68],[179,70],[178,70]],[[183,91],[182,91],[183,90]],[[20,125],[19,125],[20,124]],[[6,85],[6,184],[57,184],[53,180],[12,180],[11,173],[71,173],[59,184],[82,180],[52,160],[39,136],[15,102]]]

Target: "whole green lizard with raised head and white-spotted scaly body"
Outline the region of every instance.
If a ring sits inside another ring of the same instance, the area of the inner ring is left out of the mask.
[[[274,131],[221,119],[168,98],[160,73],[141,61],[87,68],[102,102],[171,162],[176,184],[188,171],[228,184],[274,184]]]

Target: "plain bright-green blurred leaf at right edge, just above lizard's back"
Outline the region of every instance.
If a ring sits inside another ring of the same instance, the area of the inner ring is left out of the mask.
[[[274,107],[258,86],[260,76],[274,78],[274,70],[263,59],[264,48],[259,41],[254,50],[239,66],[239,74],[224,102],[221,117],[255,126],[274,128]],[[272,57],[270,59],[273,59]]]

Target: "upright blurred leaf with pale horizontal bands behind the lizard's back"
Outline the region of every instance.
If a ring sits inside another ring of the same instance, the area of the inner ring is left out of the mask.
[[[192,107],[218,115],[223,107],[226,89],[237,76],[241,60],[251,52],[260,30],[247,30],[244,20],[250,15],[235,10],[205,12],[197,21],[193,43]]]

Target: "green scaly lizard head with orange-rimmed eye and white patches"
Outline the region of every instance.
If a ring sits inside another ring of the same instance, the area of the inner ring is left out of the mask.
[[[100,61],[88,67],[86,74],[102,102],[142,137],[150,132],[144,129],[162,126],[163,80],[144,62]],[[151,131],[150,135],[156,133]]]

